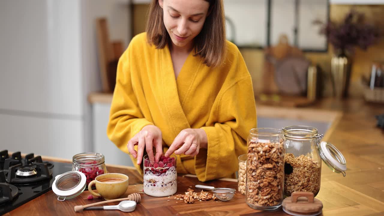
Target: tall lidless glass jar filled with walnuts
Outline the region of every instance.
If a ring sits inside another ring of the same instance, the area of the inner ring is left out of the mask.
[[[273,210],[283,202],[283,132],[253,128],[248,136],[245,200],[251,208]]]

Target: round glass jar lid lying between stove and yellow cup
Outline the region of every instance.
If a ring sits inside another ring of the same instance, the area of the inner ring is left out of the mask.
[[[86,187],[86,176],[79,171],[69,171],[55,177],[52,191],[59,201],[74,198],[83,193]]]

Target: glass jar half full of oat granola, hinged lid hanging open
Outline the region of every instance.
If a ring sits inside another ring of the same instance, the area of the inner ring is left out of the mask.
[[[321,160],[336,173],[345,176],[346,161],[340,151],[330,143],[320,142],[323,135],[310,126],[287,126],[284,132],[285,180],[284,196],[293,192],[319,193]]]

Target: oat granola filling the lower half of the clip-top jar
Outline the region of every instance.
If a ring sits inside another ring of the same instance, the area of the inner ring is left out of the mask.
[[[292,167],[291,173],[285,173],[284,193],[291,196],[296,191],[312,192],[315,196],[320,189],[321,166],[315,159],[292,153],[285,155],[286,166]]]

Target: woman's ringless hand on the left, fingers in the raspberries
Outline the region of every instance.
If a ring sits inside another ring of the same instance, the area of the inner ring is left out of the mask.
[[[134,150],[134,146],[137,151]],[[128,141],[127,147],[129,153],[137,158],[137,164],[140,164],[143,158],[144,146],[146,148],[150,161],[159,161],[163,154],[162,134],[160,128],[154,125],[147,125],[141,129],[131,140]],[[153,156],[153,146],[156,148],[156,156]]]

